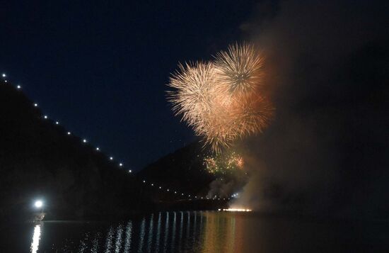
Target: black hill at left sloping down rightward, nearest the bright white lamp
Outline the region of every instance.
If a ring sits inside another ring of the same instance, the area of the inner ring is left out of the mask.
[[[139,180],[102,152],[45,119],[9,82],[0,81],[0,216],[33,212],[42,198],[47,218],[98,218],[151,208]]]

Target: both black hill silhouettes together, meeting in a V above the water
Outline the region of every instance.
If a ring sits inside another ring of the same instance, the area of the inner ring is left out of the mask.
[[[27,219],[36,211],[33,202],[38,198],[45,201],[49,220],[117,218],[165,208],[217,208],[226,201],[205,199],[215,179],[204,171],[207,154],[209,150],[195,142],[137,175],[129,174],[106,154],[45,118],[17,86],[0,81],[2,219]],[[192,199],[196,195],[204,200]]]

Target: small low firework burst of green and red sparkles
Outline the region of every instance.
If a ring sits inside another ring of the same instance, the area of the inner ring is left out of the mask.
[[[204,158],[204,165],[207,172],[211,174],[223,175],[240,171],[244,167],[244,160],[236,152],[228,152],[228,154],[216,154]]]

